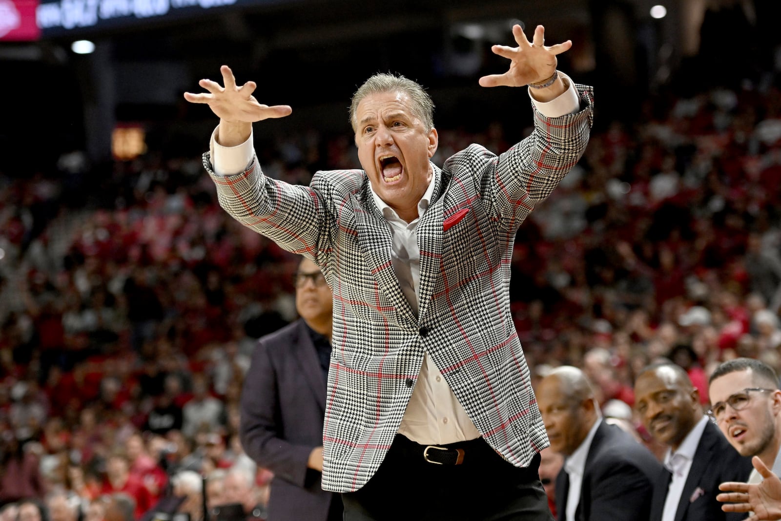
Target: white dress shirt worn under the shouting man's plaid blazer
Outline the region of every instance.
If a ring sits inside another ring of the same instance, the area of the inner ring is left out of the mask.
[[[580,98],[572,80],[561,72],[559,76],[564,80],[567,90],[550,102],[538,102],[529,89],[529,96],[537,110],[549,118],[571,114],[580,108]],[[217,129],[212,133],[209,143],[214,172],[219,176],[228,176],[244,171],[255,155],[252,135],[247,141],[234,147],[219,145],[216,135]],[[418,310],[420,280],[420,250],[416,230],[420,217],[428,209],[434,184],[435,180],[432,178],[426,193],[418,203],[418,219],[413,220],[412,223],[405,223],[372,190],[374,201],[391,228],[393,236],[391,262],[394,271],[401,285],[401,291],[415,313]],[[427,354],[423,357],[415,389],[412,391],[398,432],[419,444],[449,444],[480,437],[480,431],[469,419],[440,370]]]

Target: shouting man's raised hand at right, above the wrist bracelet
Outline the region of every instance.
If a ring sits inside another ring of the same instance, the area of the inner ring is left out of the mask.
[[[534,30],[532,41],[523,34],[521,26],[512,26],[512,35],[518,47],[506,45],[494,45],[491,51],[503,58],[510,60],[510,68],[504,74],[490,74],[480,78],[483,87],[522,87],[523,85],[539,83],[547,80],[556,70],[558,60],[556,55],[568,51],[572,47],[572,41],[561,44],[545,45],[545,28],[538,25]]]

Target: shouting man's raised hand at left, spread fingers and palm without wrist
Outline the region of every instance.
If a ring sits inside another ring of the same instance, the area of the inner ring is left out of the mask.
[[[252,93],[257,85],[254,81],[248,81],[241,87],[237,86],[234,73],[229,66],[219,68],[223,74],[223,84],[212,80],[200,80],[198,85],[209,93],[193,94],[184,93],[184,99],[191,103],[206,103],[212,112],[225,123],[254,123],[255,121],[269,118],[281,118],[289,115],[292,109],[289,105],[262,105],[255,99]]]

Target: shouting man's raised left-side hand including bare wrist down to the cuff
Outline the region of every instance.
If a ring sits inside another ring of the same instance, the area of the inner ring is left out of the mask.
[[[200,80],[198,84],[209,91],[209,94],[184,93],[184,99],[191,103],[205,103],[219,117],[219,132],[217,141],[225,147],[241,145],[252,133],[252,123],[269,118],[288,116],[292,109],[289,105],[262,105],[252,93],[257,84],[248,81],[241,87],[236,85],[236,78],[229,66],[219,68],[223,74],[223,84],[212,80]]]

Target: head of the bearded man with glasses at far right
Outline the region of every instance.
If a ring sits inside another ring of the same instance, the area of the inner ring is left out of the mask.
[[[781,391],[776,372],[759,360],[729,360],[715,369],[709,386],[709,414],[727,441],[740,455],[758,456],[779,475]],[[761,480],[761,474],[752,470],[748,483]]]

